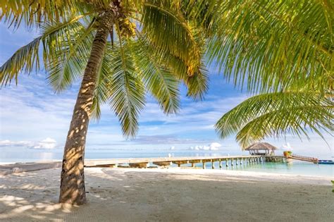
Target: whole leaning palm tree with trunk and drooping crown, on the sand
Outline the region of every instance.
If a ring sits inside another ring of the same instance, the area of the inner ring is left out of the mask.
[[[182,7],[180,3],[17,0],[1,4],[0,18],[10,26],[41,30],[39,37],[1,66],[2,85],[39,68],[47,70],[56,92],[82,79],[64,147],[59,202],[87,202],[86,135],[90,117],[100,116],[101,104],[109,102],[124,135],[132,137],[146,92],[166,114],[179,109],[180,83],[186,85],[187,96],[202,99],[207,88],[204,25],[186,15],[193,10],[186,8],[187,2]]]

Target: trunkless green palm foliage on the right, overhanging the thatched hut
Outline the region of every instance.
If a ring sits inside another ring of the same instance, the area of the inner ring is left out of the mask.
[[[237,133],[245,148],[286,132],[333,132],[333,1],[222,5],[224,23],[209,42],[209,59],[235,85],[260,94],[225,113],[218,135]]]

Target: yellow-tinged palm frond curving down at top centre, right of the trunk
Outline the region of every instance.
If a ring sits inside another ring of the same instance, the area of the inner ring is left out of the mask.
[[[202,54],[197,32],[180,11],[180,1],[146,1],[141,23],[142,32],[154,47],[187,64],[187,75],[199,70]]]

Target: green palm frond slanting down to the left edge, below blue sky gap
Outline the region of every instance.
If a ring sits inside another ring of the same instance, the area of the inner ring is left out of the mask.
[[[17,80],[21,72],[31,73],[40,66],[40,43],[42,42],[42,57],[44,66],[54,58],[58,58],[56,52],[62,51],[63,44],[68,41],[73,32],[82,27],[79,22],[82,16],[70,18],[61,23],[45,23],[42,25],[42,33],[32,42],[21,47],[11,58],[0,67],[1,85],[7,85],[14,78]]]

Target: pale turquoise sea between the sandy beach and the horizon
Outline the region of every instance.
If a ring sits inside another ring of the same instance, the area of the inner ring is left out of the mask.
[[[117,158],[135,158],[135,157],[166,157],[166,156],[222,156],[222,155],[247,155],[247,152],[208,152],[208,151],[189,151],[189,150],[87,150],[86,159],[117,159]],[[56,149],[51,151],[36,151],[27,149],[13,149],[11,152],[0,152],[0,163],[16,163],[16,162],[32,162],[32,161],[51,161],[61,160],[63,150]],[[331,156],[314,156],[320,159],[333,159]],[[229,162],[230,165],[230,162]],[[182,166],[187,166],[186,164]],[[197,164],[202,168],[202,164]],[[211,169],[211,163],[206,163],[206,168]],[[215,163],[215,168],[219,169],[218,162]],[[222,171],[256,171],[267,173],[288,173],[295,175],[318,175],[329,176],[334,179],[334,165],[312,164],[304,161],[292,161],[286,163],[260,163],[260,164],[245,164],[233,167],[225,167],[223,162]]]

